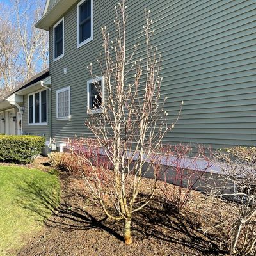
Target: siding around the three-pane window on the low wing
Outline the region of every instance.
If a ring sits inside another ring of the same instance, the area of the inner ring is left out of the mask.
[[[49,118],[51,118],[51,111],[49,110],[49,102],[51,100],[51,94],[47,92],[47,125],[29,125],[29,111],[28,111],[28,95],[24,95],[24,114],[22,115],[22,132],[24,135],[37,135],[45,136],[46,140],[50,138],[50,125]]]

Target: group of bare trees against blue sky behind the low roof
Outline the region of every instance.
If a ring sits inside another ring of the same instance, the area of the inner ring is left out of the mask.
[[[47,32],[34,27],[42,1],[0,2],[0,93],[48,66]]]

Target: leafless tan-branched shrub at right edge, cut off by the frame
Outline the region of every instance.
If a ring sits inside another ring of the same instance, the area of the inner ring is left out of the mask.
[[[229,230],[223,243],[230,255],[250,255],[256,243],[256,148],[220,150],[215,162],[221,175],[209,180],[207,190],[232,205],[232,218],[220,220]]]

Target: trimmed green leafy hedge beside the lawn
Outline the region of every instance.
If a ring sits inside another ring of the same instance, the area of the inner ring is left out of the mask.
[[[40,136],[0,135],[0,161],[29,164],[44,145],[45,138]]]

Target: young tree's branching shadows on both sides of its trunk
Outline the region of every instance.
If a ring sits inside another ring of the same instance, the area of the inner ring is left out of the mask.
[[[65,177],[66,176],[66,177]],[[50,228],[60,228],[66,232],[74,230],[89,230],[100,228],[123,241],[118,234],[122,230],[122,223],[108,220],[103,214],[90,214],[86,211],[86,197],[76,186],[70,186],[68,175],[61,175],[63,180],[62,199],[56,207],[56,198],[50,193],[52,188],[37,186],[35,182],[24,180],[24,186],[20,187],[20,197],[17,202],[22,207],[34,212],[40,218],[44,218],[45,225]],[[26,204],[26,198],[33,198],[33,204]],[[93,208],[90,209],[93,211]],[[90,211],[90,212],[92,212]],[[49,218],[49,212],[51,217]],[[94,211],[93,211],[94,212]],[[198,250],[205,255],[221,255],[216,244],[209,241],[216,240],[216,237],[206,237],[199,232],[199,224],[196,225],[196,213],[179,214],[171,209],[163,209],[159,200],[152,201],[150,205],[136,213],[132,223],[134,236],[155,237],[161,241],[173,244],[182,244],[188,248]],[[117,230],[117,231],[116,231]]]

